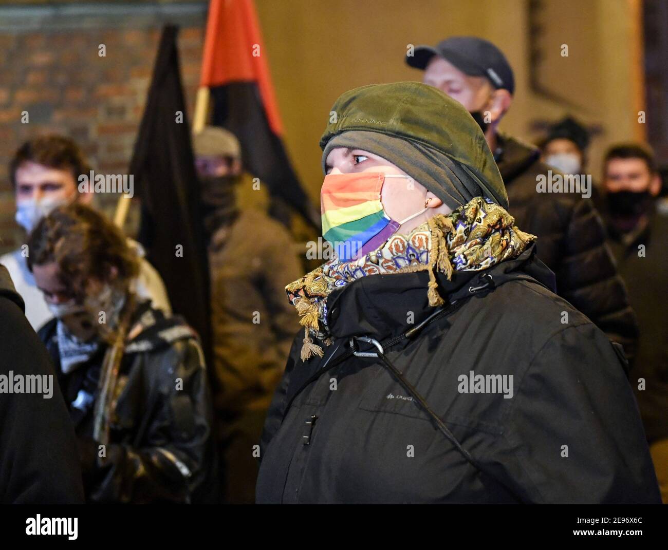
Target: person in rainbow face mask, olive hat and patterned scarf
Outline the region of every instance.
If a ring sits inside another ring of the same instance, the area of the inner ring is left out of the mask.
[[[623,352],[554,294],[471,115],[416,82],[332,111],[334,253],[286,287],[256,501],[659,503]]]

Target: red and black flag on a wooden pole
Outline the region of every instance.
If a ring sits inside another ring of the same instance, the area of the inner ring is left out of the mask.
[[[313,226],[313,208],[281,141],[281,119],[252,0],[211,0],[200,87],[210,89],[212,123],[241,144],[244,168],[266,183],[273,198]]]

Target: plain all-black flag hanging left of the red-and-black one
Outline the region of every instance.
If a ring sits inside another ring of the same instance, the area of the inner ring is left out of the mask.
[[[164,280],[172,310],[200,334],[210,356],[208,261],[177,33],[174,26],[162,31],[130,174],[142,200],[147,259]]]

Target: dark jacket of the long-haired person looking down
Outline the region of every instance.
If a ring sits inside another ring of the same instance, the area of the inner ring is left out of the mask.
[[[39,330],[58,373],[79,444],[86,500],[94,503],[208,501],[214,457],[211,402],[196,334],[150,302],[133,316],[116,384],[105,458],[92,439],[106,346],[65,374],[57,320]],[[75,402],[77,406],[74,406]]]

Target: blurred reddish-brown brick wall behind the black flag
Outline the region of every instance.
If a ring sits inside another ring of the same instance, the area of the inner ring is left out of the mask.
[[[15,13],[19,22],[22,13]],[[50,19],[49,13],[41,13],[37,29],[34,17],[24,29],[20,24],[0,28],[0,252],[24,239],[13,221],[7,174],[7,164],[24,140],[39,133],[64,133],[79,142],[96,172],[127,173],[160,28],[166,22],[164,13],[158,17],[145,9],[133,11],[132,5],[85,25],[80,14],[52,13]],[[200,73],[204,12],[198,17],[191,13],[190,19],[180,25],[178,38],[189,116]],[[77,28],[77,21],[83,28]],[[98,55],[100,44],[106,46],[106,57]],[[27,111],[28,123],[21,123],[22,111]],[[96,200],[113,212],[114,196]],[[132,232],[137,222],[135,204],[126,229]]]

